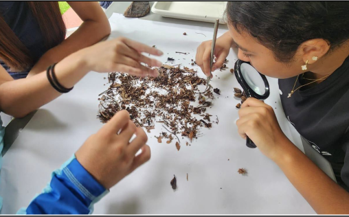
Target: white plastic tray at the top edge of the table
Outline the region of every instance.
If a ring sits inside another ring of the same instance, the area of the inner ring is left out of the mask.
[[[164,17],[225,24],[227,1],[155,1],[152,12]]]

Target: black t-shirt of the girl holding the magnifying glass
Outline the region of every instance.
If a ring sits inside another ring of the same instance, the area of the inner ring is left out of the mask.
[[[326,80],[288,98],[296,79],[279,80],[286,117],[333,164],[338,183],[349,190],[349,57]],[[302,79],[296,88],[301,85]]]

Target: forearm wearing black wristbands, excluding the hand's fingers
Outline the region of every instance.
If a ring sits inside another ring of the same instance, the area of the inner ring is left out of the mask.
[[[88,71],[78,53],[65,58],[55,67],[58,81],[66,88],[73,87]],[[46,71],[43,71],[32,78],[0,84],[0,110],[14,117],[24,117],[58,96],[60,93],[51,86]]]

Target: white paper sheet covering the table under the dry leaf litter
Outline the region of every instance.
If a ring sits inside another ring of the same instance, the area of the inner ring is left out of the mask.
[[[165,53],[159,60],[166,62],[170,56],[176,64],[188,67],[196,47],[211,40],[213,34],[211,28],[126,19],[120,14],[113,14],[110,22],[111,37],[126,36],[156,45]],[[218,36],[223,33],[219,30]],[[236,58],[235,52],[229,54],[229,69]],[[315,214],[280,168],[240,139],[235,124],[238,101],[233,89],[238,82],[229,69],[218,71],[211,83],[221,89],[221,96],[210,110],[218,115],[219,124],[203,129],[202,137],[180,151],[175,143],[158,144],[154,135],[164,130],[152,130],[148,141],[150,162],[113,187],[95,206],[95,214]],[[102,126],[96,115],[98,94],[108,87],[103,85],[104,77],[106,74],[89,73],[74,91],[43,106],[27,124],[3,159],[2,214],[14,214],[27,206],[50,180],[51,172]],[[269,82],[271,96],[266,102],[275,108],[282,129],[294,140],[282,112],[277,80]],[[239,168],[246,168],[248,175],[238,174]],[[174,174],[176,192],[170,186]]]

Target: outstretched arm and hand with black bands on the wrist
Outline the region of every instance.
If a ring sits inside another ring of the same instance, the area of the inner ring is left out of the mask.
[[[160,67],[162,63],[142,55],[142,52],[162,55],[158,49],[127,38],[105,41],[60,61],[55,68],[56,76],[66,88],[73,87],[89,71],[120,71],[134,76],[158,76],[156,69],[144,67],[141,62],[156,67]],[[24,117],[59,95],[49,84],[45,71],[31,78],[13,80],[5,69],[0,68],[0,111],[4,113]]]

